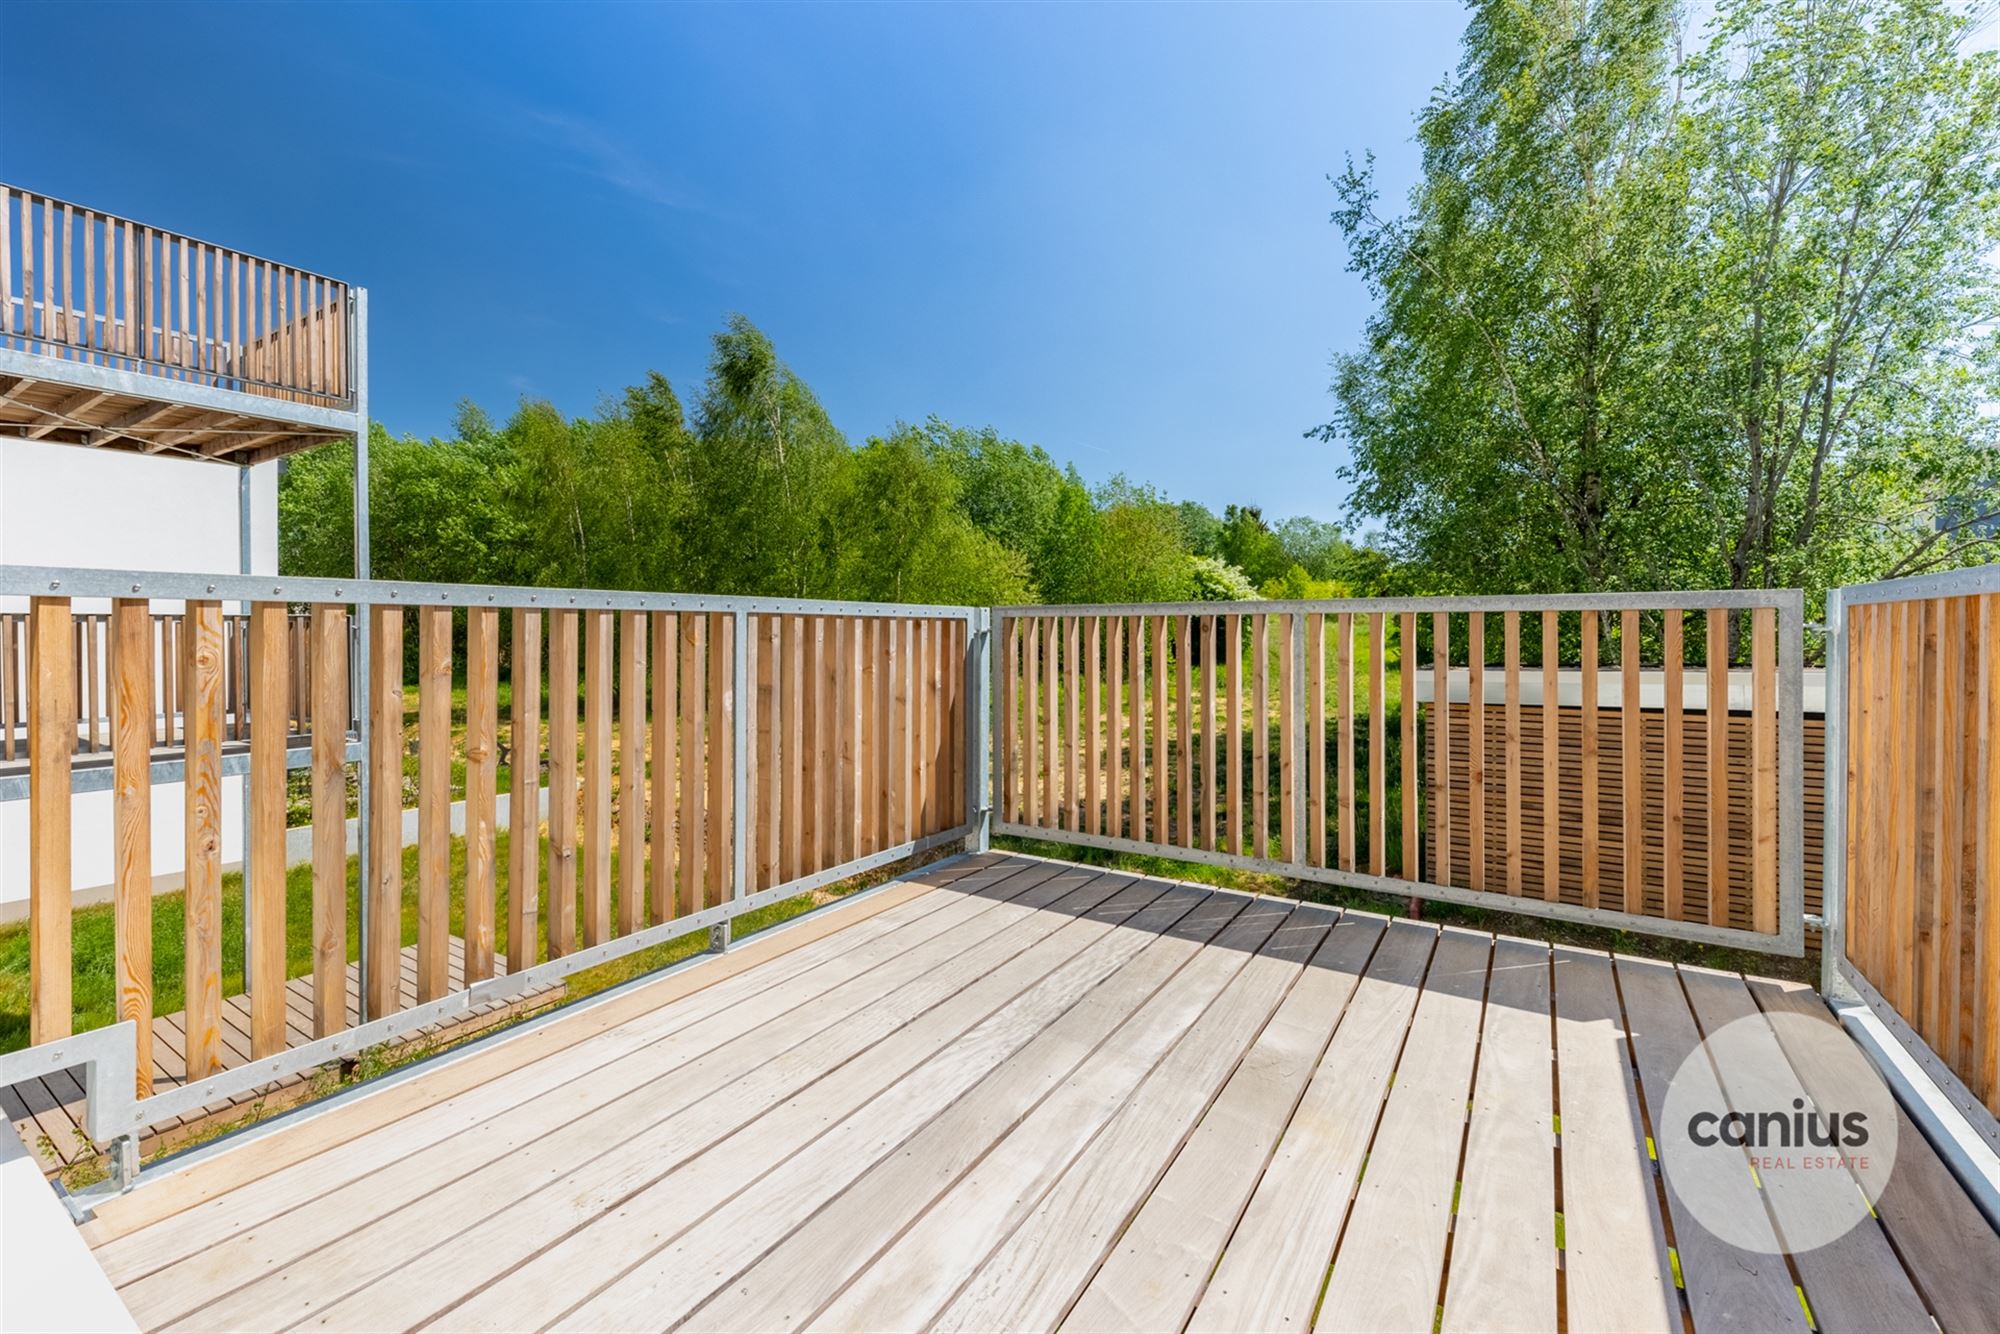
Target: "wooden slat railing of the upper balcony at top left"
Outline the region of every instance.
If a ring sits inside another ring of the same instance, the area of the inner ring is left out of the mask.
[[[0,346],[346,406],[348,288],[0,184]]]

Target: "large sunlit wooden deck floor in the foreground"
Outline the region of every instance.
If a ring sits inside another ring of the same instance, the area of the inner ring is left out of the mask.
[[[2000,1238],[1914,1128],[1878,1220],[1824,1250],[1738,1252],[1676,1210],[1646,1132],[1666,1072],[1758,1008],[1824,1014],[964,858],[84,1234],[146,1328],[1990,1328]]]

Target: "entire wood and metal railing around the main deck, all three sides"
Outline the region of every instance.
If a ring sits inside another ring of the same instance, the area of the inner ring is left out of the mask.
[[[1806,948],[1802,872],[1818,850],[1802,838],[1796,590],[982,610],[8,566],[0,594],[30,600],[26,638],[10,632],[24,654],[10,698],[26,702],[30,1044],[118,1046],[106,1060],[120,1100],[94,1122],[98,1138],[690,932],[726,944],[744,912],[986,832],[1772,954]],[[1828,686],[1830,764],[1846,778],[1828,802],[1860,820],[1828,816],[1828,872],[1852,868],[1844,894],[1828,880],[1828,948],[1940,1044],[1972,1106],[1992,1096],[2000,1050],[1986,948],[1996,918],[1978,888],[2000,856],[2000,708],[1988,690],[2000,604],[1988,576],[1934,596],[1922,612],[1864,612],[1852,648],[1838,628],[1830,640],[1856,686]],[[90,744],[78,718],[96,708],[74,698],[72,598],[114,600],[114,972],[118,1018],[132,1022],[74,1040],[72,750]],[[250,604],[234,652],[224,602]],[[166,642],[158,604],[172,608]],[[366,652],[342,652],[350,626]],[[172,658],[172,684],[158,658]],[[1680,714],[1692,676],[1726,700],[1732,662],[1750,672],[1748,698]],[[1580,704],[1560,690],[1570,670]],[[252,1050],[234,1058],[218,1044],[232,672],[250,722],[252,1016]],[[1438,710],[1454,674],[1484,698],[1488,672],[1502,682],[1496,722]],[[1614,694],[1598,690],[1598,672]],[[1664,680],[1660,712],[1642,708],[1648,672]],[[1428,700],[1420,674],[1432,676]],[[1542,692],[1530,702],[1532,678]],[[148,764],[168,690],[184,698],[186,1018],[162,1044],[180,1046],[186,1074],[150,1090]],[[282,844],[288,752],[302,732],[316,948],[312,1036],[294,1044]],[[358,954],[346,932],[350,766]],[[534,814],[544,800],[546,826]],[[396,988],[406,904],[414,1006]],[[364,972],[358,1024],[346,1018],[350,958]],[[124,1046],[134,1040],[136,1054]]]

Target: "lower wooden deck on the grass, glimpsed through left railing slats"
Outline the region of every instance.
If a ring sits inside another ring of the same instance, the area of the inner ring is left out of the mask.
[[[494,974],[506,974],[506,960],[494,960]],[[464,942],[456,936],[450,948],[450,976],[452,990],[464,986]],[[304,1046],[312,1042],[312,978],[300,976],[286,982],[286,1010],[284,1010],[284,1036],[288,1046]],[[512,1018],[524,1010],[536,1010],[554,1000],[562,1000],[562,984],[554,982],[548,986],[538,986],[520,996],[510,996],[506,1000],[490,1000],[466,1014],[452,1016],[438,1024],[428,1024],[404,1042],[432,1042],[436,1038],[466,1038],[484,1028]],[[416,1006],[416,946],[404,946],[402,950],[402,1004],[404,1008]],[[186,1082],[186,1062],[182,1058],[182,1016],[170,1014],[158,1020],[152,1048],[152,1088],[154,1092],[166,1092],[178,1088]],[[348,964],[348,1024],[360,1024],[360,964]],[[250,1060],[250,998],[238,992],[222,1002],[222,1068],[234,1068]],[[264,1110],[276,1110],[298,1102],[312,1092],[312,1072],[300,1072],[292,1078],[250,1094],[236,1094],[234,1098],[222,1098],[212,1102],[198,1112],[178,1116],[170,1122],[158,1124],[140,1142],[140,1152],[152,1154],[158,1148],[168,1148],[174,1142],[216,1124],[226,1124],[242,1120],[250,1114],[254,1104],[264,1104]],[[84,1134],[84,1086],[78,1080],[78,1072],[64,1070],[62,1074],[52,1074],[42,1080],[28,1080],[12,1088],[0,1088],[0,1114],[14,1122],[14,1132],[20,1136],[28,1152],[34,1154],[36,1162],[42,1164],[44,1172],[60,1172],[62,1168],[90,1158],[98,1152],[98,1146],[90,1142]]]

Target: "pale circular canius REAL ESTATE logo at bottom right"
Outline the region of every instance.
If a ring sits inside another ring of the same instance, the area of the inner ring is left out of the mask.
[[[1688,1054],[1654,1138],[1694,1222],[1744,1250],[1798,1254],[1846,1236],[1882,1196],[1896,1096],[1836,1024],[1758,1014]]]

